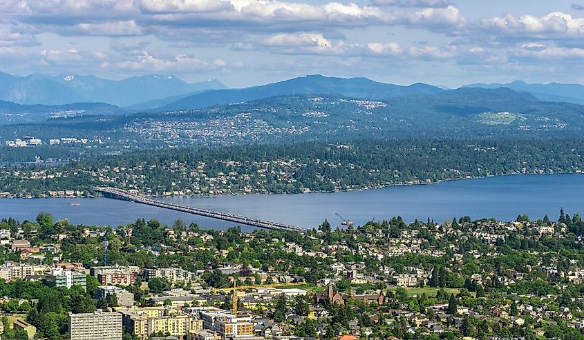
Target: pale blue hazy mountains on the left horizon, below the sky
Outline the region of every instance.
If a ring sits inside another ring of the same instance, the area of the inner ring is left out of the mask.
[[[125,107],[154,99],[221,88],[226,87],[215,79],[187,83],[166,74],[149,74],[116,81],[93,75],[51,76],[35,73],[19,77],[0,72],[0,100],[27,105],[100,102]]]

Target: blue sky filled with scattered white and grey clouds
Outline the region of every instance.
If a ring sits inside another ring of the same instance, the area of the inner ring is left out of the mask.
[[[0,71],[584,83],[584,0],[0,0]]]

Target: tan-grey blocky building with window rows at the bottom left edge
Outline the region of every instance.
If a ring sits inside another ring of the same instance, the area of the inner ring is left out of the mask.
[[[122,314],[118,312],[69,313],[71,340],[121,340]]]

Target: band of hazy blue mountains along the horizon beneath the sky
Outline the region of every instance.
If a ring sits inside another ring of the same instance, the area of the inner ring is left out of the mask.
[[[528,92],[540,101],[584,104],[584,86],[579,84],[529,84],[514,81],[506,84],[476,83],[462,88],[490,90],[509,88],[510,91],[479,91],[477,93],[487,97],[489,95],[521,97],[520,94],[514,94],[514,92]],[[113,81],[92,75],[30,74],[26,77],[17,77],[0,72],[0,100],[3,101],[0,102],[0,112],[4,113],[43,112],[48,114],[62,111],[65,108],[64,104],[71,104],[66,107],[67,110],[78,111],[80,114],[99,114],[100,108],[104,110],[104,114],[125,114],[143,111],[196,110],[209,106],[301,94],[328,94],[355,99],[390,101],[406,96],[423,96],[424,100],[433,96],[448,98],[454,93],[460,96],[464,92],[444,90],[425,83],[399,86],[366,78],[346,79],[324,77],[319,74],[263,86],[228,89],[217,80],[187,83],[178,77],[162,74]],[[476,101],[477,106],[480,107],[481,99],[474,96],[471,101]],[[107,103],[124,109],[105,105],[88,105],[88,103]]]

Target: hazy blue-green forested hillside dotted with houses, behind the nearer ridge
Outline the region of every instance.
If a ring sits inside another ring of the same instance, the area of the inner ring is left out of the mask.
[[[0,162],[79,159],[158,148],[371,138],[572,138],[584,106],[538,101],[507,89],[460,89],[386,99],[332,95],[272,97],[198,110],[74,117],[4,126],[0,140],[35,136],[43,146],[0,146]],[[48,145],[50,139],[87,143]]]

